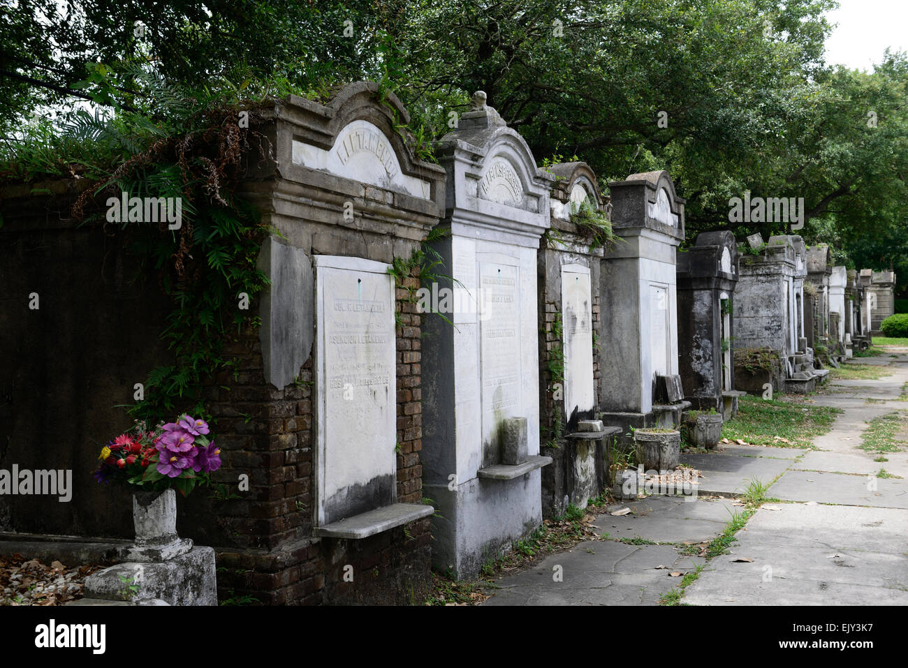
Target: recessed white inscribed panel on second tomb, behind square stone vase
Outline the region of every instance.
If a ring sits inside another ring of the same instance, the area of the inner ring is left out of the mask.
[[[515,262],[517,260],[514,260]],[[479,261],[479,376],[482,380],[482,466],[499,463],[498,429],[521,417],[519,271],[515,264]]]

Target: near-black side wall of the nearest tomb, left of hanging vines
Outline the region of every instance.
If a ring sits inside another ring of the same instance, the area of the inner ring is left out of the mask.
[[[70,469],[73,489],[67,503],[0,496],[0,531],[132,537],[132,495],[92,472],[107,441],[133,426],[115,407],[132,404],[134,384],[170,359],[159,339],[169,302],[122,233],[69,220],[72,196],[5,195],[0,468]]]

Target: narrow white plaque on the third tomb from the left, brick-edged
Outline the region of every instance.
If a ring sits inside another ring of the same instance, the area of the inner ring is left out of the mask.
[[[564,336],[565,412],[593,409],[593,311],[589,268],[569,264],[561,268],[561,313]]]

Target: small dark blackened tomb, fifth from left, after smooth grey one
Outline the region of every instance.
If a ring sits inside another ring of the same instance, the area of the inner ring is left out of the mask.
[[[732,360],[735,235],[704,232],[677,257],[678,365],[684,396],[696,410],[712,408],[731,417],[741,394],[735,390]]]

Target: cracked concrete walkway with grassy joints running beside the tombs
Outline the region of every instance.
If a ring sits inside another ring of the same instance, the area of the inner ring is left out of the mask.
[[[647,496],[613,506],[631,512],[598,516],[600,540],[498,579],[485,604],[654,605],[701,565],[682,603],[908,604],[908,451],[886,453],[880,463],[858,448],[873,417],[908,408],[898,400],[908,355],[853,361],[893,375],[830,381],[831,393],[814,400],[844,413],[814,440],[817,450],[720,446],[683,456],[704,476],[696,500]],[[881,467],[902,479],[876,477]],[[775,480],[767,496],[781,502],[756,511],[735,535],[732,554],[708,562],[691,556],[743,509],[734,496],[753,479]]]

